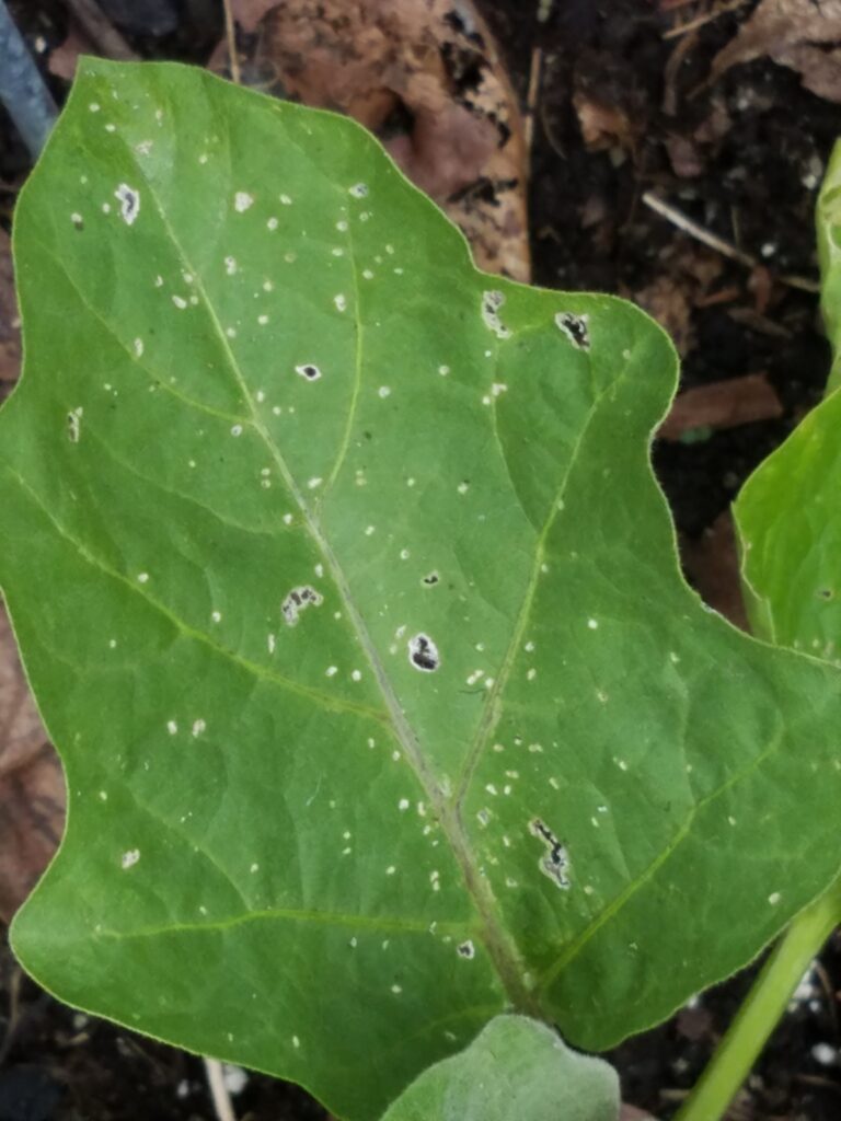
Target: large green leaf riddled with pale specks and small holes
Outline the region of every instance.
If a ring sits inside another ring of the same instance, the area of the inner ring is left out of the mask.
[[[834,877],[838,674],[681,578],[640,312],[483,276],[352,122],[172,65],[83,64],[15,242],[46,988],[368,1119],[509,1008],[648,1027]]]

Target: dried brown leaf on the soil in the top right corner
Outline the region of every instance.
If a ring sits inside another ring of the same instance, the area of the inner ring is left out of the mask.
[[[711,80],[767,56],[796,71],[807,90],[841,102],[840,43],[841,0],[761,0],[713,59]]]

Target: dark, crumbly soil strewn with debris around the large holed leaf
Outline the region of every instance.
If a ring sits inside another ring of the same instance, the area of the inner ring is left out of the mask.
[[[64,38],[63,4],[27,0],[11,7],[30,41],[43,37],[46,64]],[[120,6],[112,0],[103,7]],[[136,13],[145,7],[166,10],[158,24],[164,34],[124,29],[145,57],[202,62],[220,36],[218,6],[204,0],[122,4]],[[691,15],[711,8],[683,7]],[[654,304],[682,343],[685,387],[765,372],[783,404],[779,418],[655,446],[657,475],[690,545],[817,401],[828,370],[816,296],[779,277],[816,278],[812,214],[841,131],[839,108],[767,59],[737,66],[702,89],[713,56],[755,7],[746,0],[703,26],[676,66],[669,59],[683,39],[664,38],[681,16],[675,3],[481,4],[524,103],[534,50],[540,52],[530,189],[535,281]],[[548,10],[544,22],[540,8]],[[66,83],[50,81],[61,101]],[[590,146],[582,136],[594,105],[609,124],[601,150],[592,136]],[[0,114],[3,224],[27,169],[27,155]],[[644,204],[650,189],[764,267],[751,270],[699,248]],[[0,964],[0,1121],[213,1115],[200,1059],[62,1007],[20,976],[8,952]],[[710,990],[667,1023],[617,1048],[609,1057],[621,1073],[625,1099],[668,1118],[752,974],[748,970]],[[840,991],[837,935],[765,1049],[732,1121],[841,1117]],[[234,1101],[238,1117],[252,1121],[324,1117],[302,1091],[257,1075],[248,1076]]]

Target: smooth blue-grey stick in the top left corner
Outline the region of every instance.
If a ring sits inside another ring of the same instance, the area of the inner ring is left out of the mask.
[[[0,101],[37,159],[58,111],[3,0],[0,0]]]

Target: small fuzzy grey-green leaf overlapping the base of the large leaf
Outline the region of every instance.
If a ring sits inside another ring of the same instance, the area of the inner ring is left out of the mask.
[[[382,1121],[617,1121],[619,1080],[543,1023],[499,1016],[412,1083]]]

